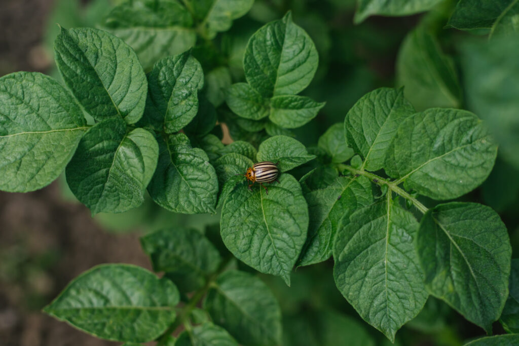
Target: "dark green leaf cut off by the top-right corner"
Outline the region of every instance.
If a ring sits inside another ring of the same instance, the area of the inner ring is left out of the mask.
[[[519,2],[516,0],[460,0],[456,5],[448,26],[460,30],[491,29],[494,32],[517,32],[519,24]]]

